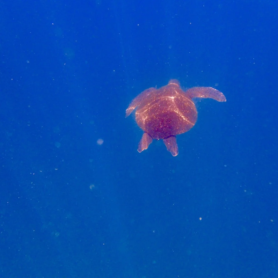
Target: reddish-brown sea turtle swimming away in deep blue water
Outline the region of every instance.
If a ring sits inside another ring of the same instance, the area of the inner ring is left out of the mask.
[[[147,149],[153,139],[163,139],[167,150],[173,156],[178,155],[176,135],[189,131],[197,120],[192,98],[226,101],[224,94],[211,87],[193,87],[184,92],[176,79],[159,89],[146,89],[131,101],[125,117],[137,107],[135,119],[144,131],[138,144],[139,153]]]

